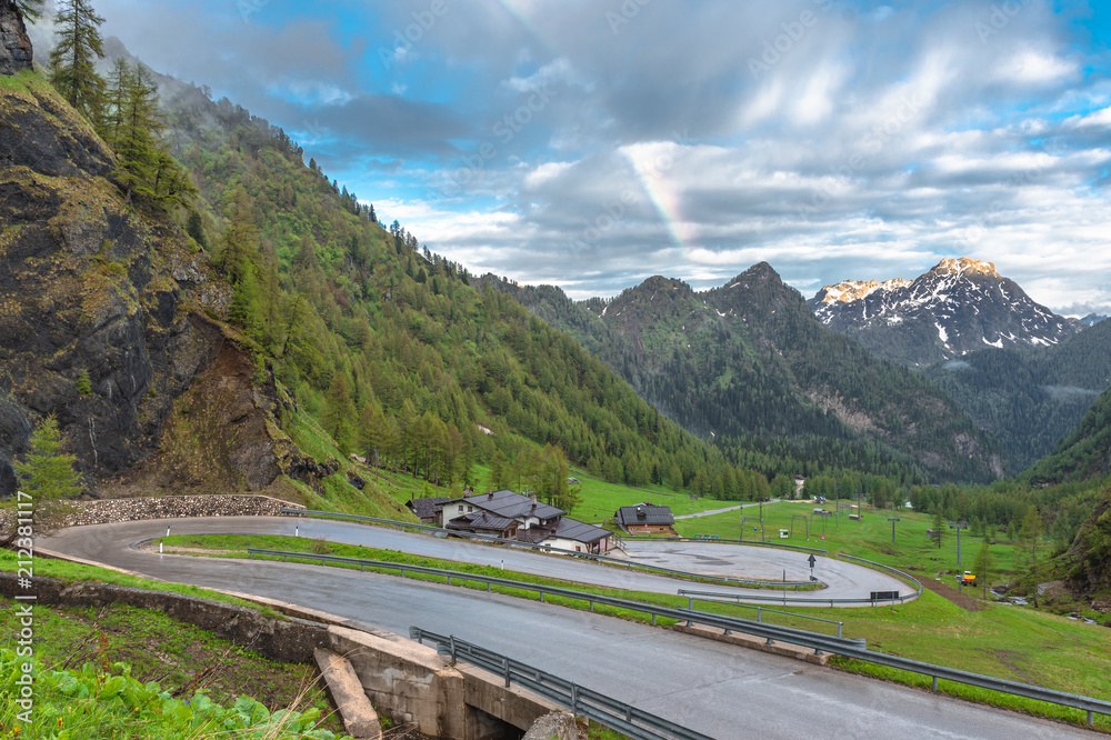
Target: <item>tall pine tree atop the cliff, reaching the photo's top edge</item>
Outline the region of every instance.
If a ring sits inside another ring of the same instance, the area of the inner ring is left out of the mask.
[[[89,0],[60,0],[54,27],[58,46],[50,52],[50,81],[69,104],[99,127],[104,79],[96,60],[104,58],[98,27],[104,22]]]

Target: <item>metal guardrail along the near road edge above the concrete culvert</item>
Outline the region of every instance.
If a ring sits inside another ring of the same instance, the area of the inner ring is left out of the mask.
[[[633,740],[713,740],[671,720],[650,714],[632,704],[611,699],[604,693],[592,691],[548,671],[513,660],[507,656],[487,650],[473,642],[460,640],[456,636],[443,636],[419,627],[409,628],[409,637],[421,644],[424,640],[436,642],[437,652],[450,656],[452,662],[462,660],[494,676],[502,677],[506,688],[517,683],[558,704],[574,714],[581,714],[604,724]]]

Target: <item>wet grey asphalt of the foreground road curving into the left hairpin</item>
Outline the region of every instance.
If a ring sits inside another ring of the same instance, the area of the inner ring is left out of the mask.
[[[280,521],[280,520],[277,520]],[[239,522],[226,519],[226,531]],[[171,532],[190,522],[172,520]],[[721,740],[1092,738],[1094,733],[602,614],[442,584],[130,549],[167,522],[81,527],[44,549],[181,583],[281,599],[400,634],[482,644]],[[570,564],[570,563],[569,563]]]

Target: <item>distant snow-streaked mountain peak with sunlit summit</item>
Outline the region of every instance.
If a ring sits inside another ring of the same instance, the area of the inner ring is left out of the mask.
[[[1048,347],[1084,324],[1032,301],[991,262],[942,260],[912,281],[847,281],[808,301],[830,329],[880,357],[927,366],[985,346]]]

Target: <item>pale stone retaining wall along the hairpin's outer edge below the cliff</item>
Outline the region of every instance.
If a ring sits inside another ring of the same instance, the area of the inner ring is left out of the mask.
[[[269,496],[158,496],[136,499],[77,501],[79,510],[67,518],[70,526],[111,524],[141,519],[180,517],[280,517],[284,509],[303,509]]]

